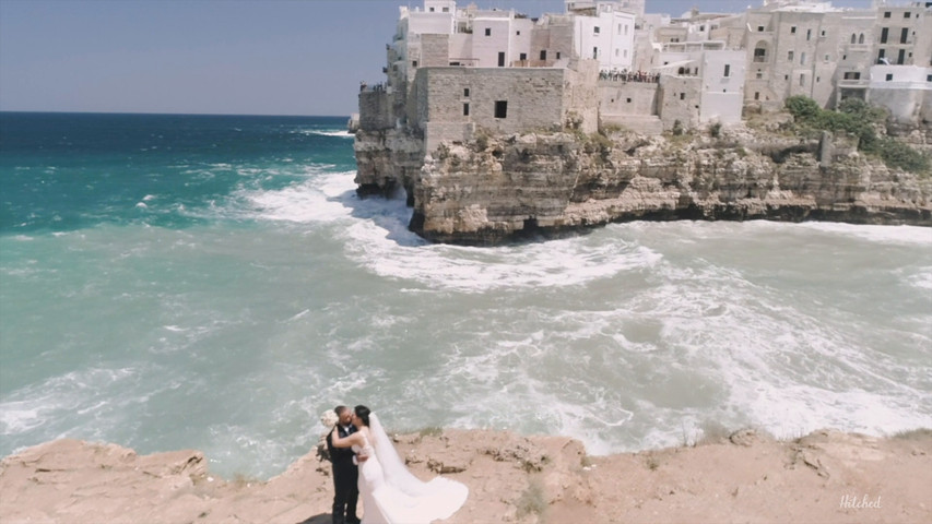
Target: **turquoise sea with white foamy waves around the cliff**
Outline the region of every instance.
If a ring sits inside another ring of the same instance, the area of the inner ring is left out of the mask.
[[[193,448],[268,478],[338,403],[592,454],[932,427],[932,229],[429,245],[402,195],[356,198],[344,123],[0,114],[0,454]]]

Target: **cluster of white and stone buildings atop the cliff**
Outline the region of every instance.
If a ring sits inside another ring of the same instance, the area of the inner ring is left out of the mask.
[[[794,95],[932,118],[930,2],[764,0],[680,17],[645,13],[644,0],[565,3],[535,19],[455,0],[400,8],[386,82],[362,91],[359,127],[408,129],[433,151],[480,131],[733,123]]]

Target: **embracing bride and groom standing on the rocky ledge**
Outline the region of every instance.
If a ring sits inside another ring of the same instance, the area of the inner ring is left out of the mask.
[[[424,483],[404,466],[376,414],[366,406],[334,409],[339,422],[327,434],[333,463],[333,524],[356,524],[363,499],[364,524],[427,524],[448,519],[465,502],[469,488],[444,477]]]

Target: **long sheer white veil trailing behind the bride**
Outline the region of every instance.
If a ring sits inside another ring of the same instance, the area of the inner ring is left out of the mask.
[[[386,483],[410,497],[422,499],[418,505],[429,513],[429,520],[448,519],[465,503],[469,497],[465,485],[444,477],[425,483],[412,475],[375,413],[369,414],[369,432]]]

